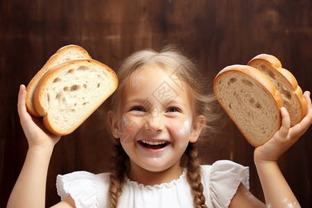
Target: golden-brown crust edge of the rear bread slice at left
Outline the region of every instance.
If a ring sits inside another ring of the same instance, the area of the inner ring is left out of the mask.
[[[62,55],[64,55],[64,53],[69,53],[70,51],[80,51],[80,54],[83,55],[84,58],[91,58],[89,53],[87,53],[87,51],[81,46],[71,44],[58,49],[58,51],[56,51],[55,54],[53,54],[51,58],[47,60],[46,64],[44,64],[42,69],[40,69],[40,71],[35,74],[35,76],[31,79],[26,87],[26,108],[29,114],[31,114],[32,116],[40,117],[40,114],[37,113],[37,111],[35,110],[35,106],[33,105],[33,93],[35,92],[37,84],[39,83],[42,76],[44,76],[46,71],[49,71],[49,69],[51,69],[51,66],[55,64],[55,62],[60,59]]]

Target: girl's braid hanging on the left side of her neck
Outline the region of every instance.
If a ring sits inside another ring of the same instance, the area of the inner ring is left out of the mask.
[[[117,139],[114,139],[114,151],[112,155],[112,170],[110,174],[110,208],[116,208],[119,196],[121,196],[123,182],[125,180],[124,173],[127,171],[125,162],[129,157],[123,150]]]

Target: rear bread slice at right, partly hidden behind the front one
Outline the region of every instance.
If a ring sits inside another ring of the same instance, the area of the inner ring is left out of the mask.
[[[284,106],[291,116],[291,126],[300,123],[306,115],[308,106],[293,74],[281,68],[281,62],[275,56],[264,53],[252,58],[248,65],[266,74],[281,93]]]

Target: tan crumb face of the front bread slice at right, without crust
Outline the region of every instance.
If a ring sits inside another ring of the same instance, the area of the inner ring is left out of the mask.
[[[218,78],[216,96],[243,135],[252,143],[263,144],[279,125],[279,109],[263,86],[244,73],[223,73]]]

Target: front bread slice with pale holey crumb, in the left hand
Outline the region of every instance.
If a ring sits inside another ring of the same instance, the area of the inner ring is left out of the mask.
[[[116,89],[116,73],[92,59],[70,60],[47,71],[33,94],[44,126],[54,135],[68,135]]]

